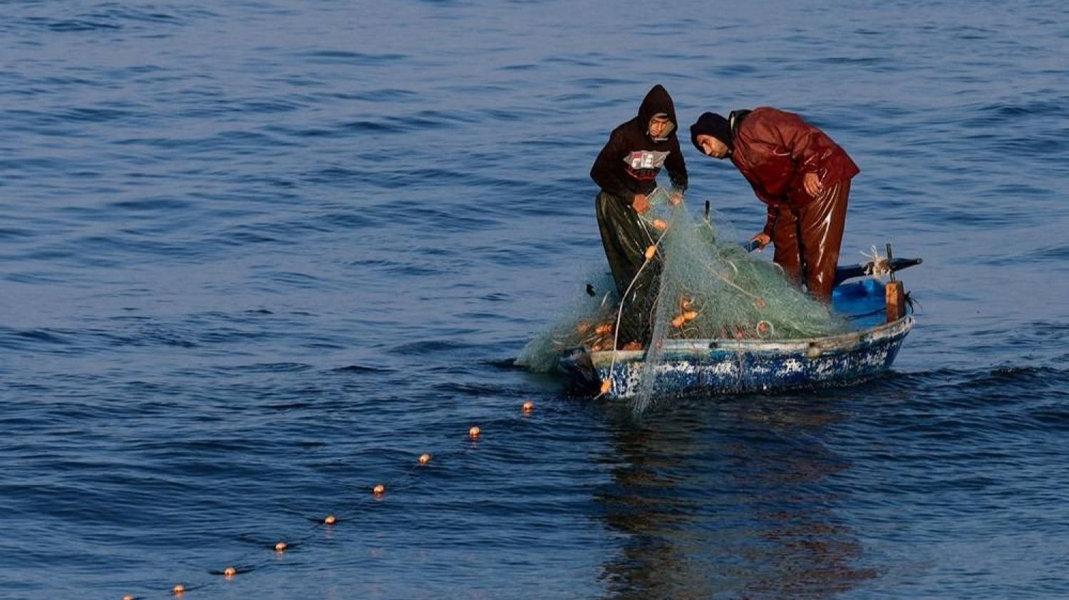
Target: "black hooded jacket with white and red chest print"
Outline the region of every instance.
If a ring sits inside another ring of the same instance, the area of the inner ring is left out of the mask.
[[[650,138],[650,120],[657,113],[668,115],[672,128],[661,141]],[[661,167],[668,170],[673,187],[686,189],[686,163],[679,148],[676,130],[676,106],[668,91],[654,85],[638,108],[638,116],[620,125],[608,137],[590,169],[590,178],[606,192],[622,198],[629,203],[637,194],[648,194],[656,187],[654,178]]]

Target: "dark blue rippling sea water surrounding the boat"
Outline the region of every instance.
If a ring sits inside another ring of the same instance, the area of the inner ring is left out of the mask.
[[[1069,597],[1069,10],[717,4],[0,3],[0,597]],[[895,373],[636,422],[509,367],[657,82],[850,152]]]

